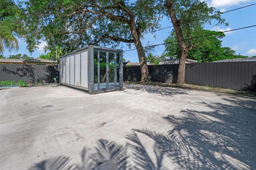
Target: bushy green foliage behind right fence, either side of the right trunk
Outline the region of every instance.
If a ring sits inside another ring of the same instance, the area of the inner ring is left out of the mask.
[[[247,56],[235,55],[235,51],[229,47],[221,47],[221,38],[225,36],[224,33],[210,31],[210,30],[201,30],[192,31],[192,37],[202,36],[200,38],[194,38],[191,40],[194,48],[188,53],[187,58],[197,60],[200,62],[212,62],[222,59],[233,59],[233,58],[244,58]],[[205,36],[208,34],[214,34],[210,36]],[[170,42],[166,44],[166,55],[170,58],[179,57],[180,47],[176,41],[175,32],[171,32],[171,35],[165,40],[165,42]]]

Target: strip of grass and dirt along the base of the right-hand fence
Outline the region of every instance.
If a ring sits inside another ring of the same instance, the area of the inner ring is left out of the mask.
[[[222,89],[218,87],[210,87],[210,86],[200,86],[200,85],[192,85],[192,84],[171,84],[171,83],[158,83],[158,82],[130,82],[124,81],[127,84],[140,84],[140,85],[152,85],[152,86],[159,86],[159,87],[173,87],[179,89],[188,89],[188,90],[196,90],[196,91],[207,91],[213,93],[224,93],[229,95],[243,95],[248,97],[256,97],[255,92],[250,91],[242,91],[242,90],[231,90],[231,89]]]

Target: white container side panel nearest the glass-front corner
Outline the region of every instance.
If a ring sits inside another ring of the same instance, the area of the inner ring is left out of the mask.
[[[81,53],[81,87],[88,88],[88,51]]]

